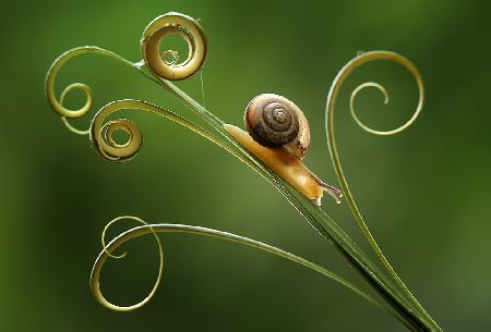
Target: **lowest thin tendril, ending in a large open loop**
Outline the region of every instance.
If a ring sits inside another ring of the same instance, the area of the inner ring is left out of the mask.
[[[109,309],[112,309],[112,310],[116,310],[116,311],[134,310],[134,309],[137,309],[137,308],[142,307],[143,305],[145,305],[155,295],[155,292],[156,292],[156,290],[158,287],[158,283],[160,282],[160,276],[161,276],[163,271],[164,271],[163,249],[161,249],[160,241],[159,241],[158,236],[156,235],[156,233],[166,232],[166,233],[196,234],[196,235],[215,237],[215,238],[219,238],[219,239],[226,239],[226,241],[243,244],[243,245],[247,245],[247,246],[260,249],[260,250],[264,250],[266,253],[274,254],[276,256],[279,256],[279,257],[283,257],[283,258],[288,259],[290,261],[294,261],[296,263],[299,263],[299,265],[301,265],[301,266],[303,266],[306,268],[314,270],[315,272],[321,273],[321,274],[323,274],[323,275],[325,275],[327,278],[331,278],[332,280],[338,282],[339,284],[348,287],[350,291],[352,291],[352,292],[357,293],[358,295],[362,296],[364,299],[367,299],[371,304],[378,306],[381,309],[387,310],[390,313],[394,315],[394,312],[391,309],[391,307],[381,306],[370,295],[368,295],[363,291],[359,290],[358,287],[352,285],[347,280],[343,279],[342,276],[337,275],[336,273],[331,272],[330,270],[327,270],[327,269],[325,269],[325,268],[323,268],[321,266],[318,266],[318,265],[315,265],[315,263],[313,263],[311,261],[308,261],[304,258],[301,258],[301,257],[296,256],[294,254],[290,254],[288,251],[282,250],[282,249],[277,248],[277,247],[264,244],[264,243],[255,241],[255,239],[251,239],[251,238],[248,238],[248,237],[243,237],[243,236],[240,236],[240,235],[228,233],[228,232],[221,232],[221,231],[217,231],[217,230],[213,230],[213,229],[192,226],[192,225],[185,225],[185,224],[170,224],[170,223],[147,224],[146,222],[144,222],[140,218],[124,216],[124,217],[118,217],[118,218],[111,220],[105,226],[105,229],[103,231],[103,235],[101,235],[103,244],[105,244],[104,237],[105,237],[107,229],[111,224],[113,224],[115,222],[121,221],[123,219],[136,220],[137,222],[143,223],[144,225],[137,226],[137,228],[133,228],[133,229],[131,229],[129,231],[125,231],[125,232],[121,233],[120,235],[116,236],[109,244],[105,245],[103,251],[99,254],[99,256],[97,257],[96,261],[94,262],[94,267],[93,267],[93,270],[92,270],[92,273],[91,273],[89,285],[91,285],[91,290],[92,290],[92,293],[93,293],[94,297],[103,306],[105,306],[105,307],[107,307]],[[159,266],[157,281],[154,284],[154,287],[152,288],[151,293],[142,302],[140,302],[140,303],[137,303],[135,305],[118,306],[118,305],[111,304],[110,302],[108,302],[103,296],[103,294],[100,292],[100,285],[99,285],[100,271],[103,269],[103,266],[104,266],[106,259],[108,257],[113,257],[113,258],[124,257],[125,253],[123,255],[116,256],[116,255],[112,255],[112,251],[115,251],[123,243],[125,243],[125,242],[128,242],[128,241],[130,241],[132,238],[142,236],[142,235],[146,235],[146,234],[149,234],[149,233],[154,234],[154,236],[156,237],[157,244],[158,244],[158,248],[159,248],[159,255],[160,255],[160,266]]]

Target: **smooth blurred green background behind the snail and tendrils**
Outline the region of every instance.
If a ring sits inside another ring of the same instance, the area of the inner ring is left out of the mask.
[[[134,312],[99,306],[88,276],[110,219],[134,214],[250,236],[322,263],[364,287],[270,184],[205,139],[155,115],[132,119],[145,135],[137,158],[109,163],[74,136],[48,106],[45,74],[57,56],[97,45],[132,61],[159,14],[200,17],[208,36],[206,106],[240,124],[260,93],[294,100],[308,115],[307,163],[335,176],[325,144],[324,104],[337,71],[357,51],[394,50],[411,59],[427,88],[408,131],[374,137],[358,128],[348,96],[373,79],[391,95],[364,91],[360,118],[378,128],[408,119],[417,101],[409,74],[371,63],[344,86],[336,130],[348,181],[390,260],[447,331],[489,331],[491,318],[491,8],[486,1],[22,1],[2,3],[3,79],[0,231],[1,331],[404,331],[392,317],[331,280],[271,255],[191,235],[163,236],[165,280]],[[130,69],[99,56],[71,61],[70,83],[93,87],[96,107],[140,98],[185,116],[188,109]],[[178,83],[201,100],[199,76]],[[77,106],[73,94],[69,103]],[[74,122],[87,126],[88,119]],[[366,246],[346,204],[323,208]],[[254,211],[254,213],[251,213]],[[118,234],[133,224],[116,226]],[[106,296],[130,304],[156,275],[151,237],[108,261]]]

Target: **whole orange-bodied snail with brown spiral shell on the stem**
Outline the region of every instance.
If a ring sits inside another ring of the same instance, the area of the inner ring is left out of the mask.
[[[324,183],[302,162],[310,146],[310,128],[306,115],[292,101],[275,94],[259,95],[246,108],[244,124],[248,132],[231,124],[225,124],[225,130],[318,205],[324,192],[340,202],[342,192]]]

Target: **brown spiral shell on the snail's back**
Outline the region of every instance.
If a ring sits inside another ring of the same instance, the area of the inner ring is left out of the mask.
[[[310,145],[310,128],[303,112],[290,100],[274,94],[254,97],[246,108],[246,128],[259,144],[287,150],[303,158]]]

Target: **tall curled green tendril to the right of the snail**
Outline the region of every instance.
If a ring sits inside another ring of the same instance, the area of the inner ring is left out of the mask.
[[[383,255],[382,249],[379,247],[379,245],[375,242],[373,235],[371,234],[370,230],[368,229],[367,224],[364,223],[363,218],[362,218],[362,216],[361,216],[361,213],[360,213],[360,211],[359,211],[359,209],[358,209],[358,207],[357,207],[357,205],[355,202],[352,194],[349,190],[348,183],[346,181],[346,176],[344,175],[343,168],[342,168],[342,164],[340,164],[340,161],[339,161],[339,156],[338,156],[338,152],[337,152],[336,140],[335,140],[335,135],[334,135],[334,109],[335,109],[335,103],[336,103],[336,99],[337,99],[337,95],[339,93],[340,86],[343,85],[343,83],[346,79],[346,77],[355,69],[357,69],[358,66],[362,65],[366,62],[374,61],[374,60],[387,60],[387,61],[393,61],[393,62],[399,63],[404,67],[406,67],[414,75],[414,77],[416,79],[416,84],[418,86],[418,91],[419,91],[418,104],[416,107],[416,111],[412,114],[412,116],[405,124],[403,124],[402,126],[399,126],[399,127],[397,127],[395,130],[392,130],[392,131],[385,131],[385,132],[384,131],[375,131],[375,130],[364,125],[363,123],[361,123],[361,121],[356,115],[355,108],[354,108],[355,97],[357,96],[357,94],[361,89],[363,89],[366,87],[375,87],[380,91],[382,91],[382,94],[385,97],[385,100],[384,100],[385,103],[388,101],[388,95],[387,95],[385,88],[383,86],[381,86],[380,84],[373,83],[373,82],[364,83],[364,84],[358,86],[351,93],[351,97],[350,97],[350,111],[351,111],[351,115],[354,116],[356,123],[360,127],[362,127],[364,131],[367,131],[369,133],[372,133],[372,134],[375,134],[375,135],[394,135],[394,134],[400,133],[404,130],[406,130],[418,118],[418,115],[419,115],[419,113],[420,113],[420,111],[422,109],[422,104],[423,104],[424,89],[423,89],[423,83],[422,83],[421,74],[419,73],[417,67],[412,64],[412,62],[410,62],[409,60],[407,60],[403,56],[399,56],[399,54],[397,54],[395,52],[390,52],[390,51],[371,51],[371,52],[361,53],[361,54],[357,56],[356,58],[354,58],[351,61],[349,61],[339,71],[339,73],[336,75],[336,77],[335,77],[335,79],[333,82],[333,85],[331,86],[330,93],[327,95],[327,104],[326,104],[326,114],[325,114],[327,145],[328,145],[328,148],[330,148],[330,152],[331,152],[331,157],[332,157],[332,160],[333,160],[334,169],[335,169],[337,177],[339,180],[339,184],[340,184],[340,186],[343,188],[343,192],[344,192],[344,194],[346,196],[346,199],[348,201],[348,205],[349,205],[349,208],[351,210],[351,213],[354,214],[354,217],[355,217],[358,225],[360,226],[363,235],[366,236],[366,238],[370,243],[371,247],[373,248],[373,250],[375,251],[375,254],[378,255],[379,259],[382,261],[384,267],[387,269],[387,271],[390,272],[392,278],[396,281],[396,283],[400,286],[403,292],[411,300],[411,304],[416,307],[416,309],[418,311],[420,311],[424,316],[426,319],[428,319],[435,327],[438,327],[436,322],[427,313],[424,308],[418,303],[416,297],[410,293],[410,291],[407,288],[406,284],[403,282],[403,280],[397,275],[395,270],[392,268],[391,263],[388,262],[388,260]]]

